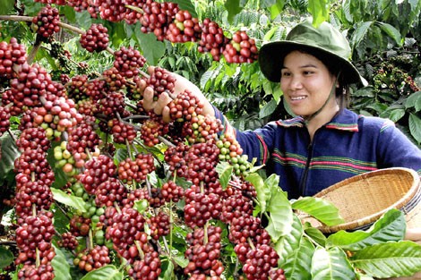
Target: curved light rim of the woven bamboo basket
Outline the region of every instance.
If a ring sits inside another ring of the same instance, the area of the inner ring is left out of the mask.
[[[372,176],[378,176],[378,175],[383,175],[383,174],[393,174],[393,173],[407,173],[410,174],[413,182],[411,187],[409,188],[409,190],[407,191],[407,193],[398,201],[396,201],[395,203],[393,203],[390,207],[388,208],[383,208],[382,210],[370,215],[370,216],[365,216],[363,218],[354,220],[354,221],[350,221],[347,223],[343,223],[340,225],[321,225],[319,226],[319,230],[322,231],[322,233],[335,233],[338,232],[339,230],[349,230],[349,229],[353,229],[356,230],[358,229],[358,227],[362,227],[364,225],[368,225],[370,223],[374,223],[380,216],[382,216],[384,213],[386,213],[388,210],[390,210],[391,208],[403,208],[405,205],[408,204],[408,202],[417,194],[418,189],[421,187],[420,186],[420,177],[417,174],[417,172],[413,169],[410,168],[406,168],[406,167],[389,167],[389,168],[383,168],[383,169],[377,169],[374,171],[370,171],[364,174],[359,174],[353,177],[349,177],[343,181],[337,182],[333,185],[331,185],[330,187],[316,193],[314,195],[314,197],[316,198],[321,198],[323,195],[325,195],[326,193],[329,193],[331,191],[334,191],[336,189],[339,189],[340,187],[342,187],[343,185],[349,184],[351,182],[356,182],[358,180],[361,179],[365,179],[368,177],[372,177]]]

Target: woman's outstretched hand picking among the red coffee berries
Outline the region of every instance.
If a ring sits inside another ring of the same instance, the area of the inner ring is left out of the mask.
[[[154,71],[154,67],[150,66],[148,72],[151,74]],[[215,115],[211,103],[203,96],[201,89],[196,87],[193,82],[188,81],[185,77],[180,76],[176,73],[171,73],[176,77],[174,94],[171,97],[168,95],[168,92],[163,92],[159,95],[158,100],[153,100],[153,89],[147,87],[146,81],[141,81],[141,90],[143,91],[143,107],[146,111],[151,111],[157,115],[162,115],[164,122],[171,122],[171,117],[169,115],[168,103],[171,102],[179,93],[184,92],[185,89],[190,90],[197,98],[199,98],[203,103],[202,115]]]

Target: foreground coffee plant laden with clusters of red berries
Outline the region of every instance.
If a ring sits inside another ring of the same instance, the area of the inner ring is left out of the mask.
[[[8,210],[0,279],[355,279],[421,269],[420,246],[403,241],[402,212],[388,211],[364,233],[324,236],[296,211],[337,225],[333,205],[289,201],[279,177],[266,177],[218,119],[202,115],[190,89],[176,95],[176,76],[161,67],[147,73],[140,50],[115,51],[105,25],[83,31],[59,21],[58,9],[137,22],[228,64],[257,59],[245,31],[228,36],[171,2],[36,2],[36,16],[3,19],[34,25],[37,44],[66,65],[55,75],[32,63],[39,48],[27,55],[17,38],[0,42],[0,210]],[[59,28],[80,34],[91,55],[109,53],[112,64],[100,71],[72,61],[53,38]],[[142,107],[140,81],[155,98],[173,97],[171,122]]]

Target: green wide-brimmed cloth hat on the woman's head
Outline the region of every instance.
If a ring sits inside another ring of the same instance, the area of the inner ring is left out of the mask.
[[[339,66],[340,81],[346,84],[366,83],[351,64],[351,48],[347,38],[330,23],[324,21],[315,28],[311,20],[306,20],[289,31],[287,38],[278,42],[263,45],[259,52],[259,64],[263,74],[269,81],[280,81],[283,60],[293,50],[304,50],[309,54],[319,54]],[[336,61],[335,61],[336,60]]]

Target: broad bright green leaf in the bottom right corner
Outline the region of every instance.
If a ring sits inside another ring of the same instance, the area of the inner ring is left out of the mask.
[[[409,241],[375,244],[358,251],[350,260],[376,278],[412,276],[421,271],[421,245]]]

